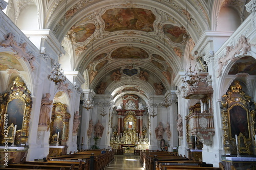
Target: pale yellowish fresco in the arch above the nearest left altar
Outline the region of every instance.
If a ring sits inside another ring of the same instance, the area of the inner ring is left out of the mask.
[[[22,65],[19,63],[19,61],[12,55],[8,53],[0,53],[0,70],[6,71],[10,68],[15,68],[19,71],[24,71]]]

